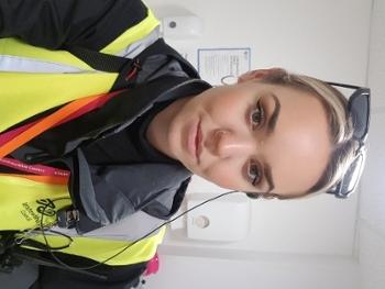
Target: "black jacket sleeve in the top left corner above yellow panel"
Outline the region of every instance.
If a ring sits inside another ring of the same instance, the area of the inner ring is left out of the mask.
[[[140,0],[0,0],[0,37],[100,51],[146,14]]]

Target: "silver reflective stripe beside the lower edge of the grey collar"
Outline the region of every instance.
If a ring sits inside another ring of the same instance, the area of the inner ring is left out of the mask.
[[[151,231],[155,230],[163,222],[165,221],[154,218],[143,211],[138,211],[117,223],[94,230],[91,232],[82,234],[81,236],[118,241],[136,241],[148,234]],[[76,229],[62,229],[58,226],[54,226],[53,230],[64,233],[68,236],[79,235],[76,232]],[[155,231],[148,236],[152,236],[157,232],[158,231]]]

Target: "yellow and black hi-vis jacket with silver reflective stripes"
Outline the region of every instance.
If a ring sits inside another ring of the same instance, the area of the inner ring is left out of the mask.
[[[32,1],[23,5],[7,2],[0,2],[0,132],[51,108],[110,91],[118,74],[91,68],[65,46],[132,58],[158,37],[158,21],[136,0]],[[56,13],[55,19],[47,14],[50,10]],[[21,18],[23,23],[18,23]],[[38,231],[30,230],[40,226],[36,211],[46,199],[58,200],[55,210],[70,204],[65,185],[0,176],[0,230],[21,230],[16,235],[21,243],[32,238],[45,244]],[[53,222],[53,218],[44,216],[43,223]],[[161,230],[106,264],[146,262],[154,256],[163,235]],[[68,244],[67,237],[57,234],[46,232],[46,237],[52,247]],[[105,262],[131,242],[76,236],[61,253]]]

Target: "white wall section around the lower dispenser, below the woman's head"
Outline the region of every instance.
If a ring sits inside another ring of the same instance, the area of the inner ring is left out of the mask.
[[[201,181],[200,181],[201,182]],[[190,191],[202,191],[206,188]],[[185,230],[168,231],[167,245],[188,247],[232,248],[256,252],[299,254],[337,254],[351,256],[354,247],[358,194],[349,200],[330,196],[290,201],[252,201],[251,231],[237,243],[188,241]],[[209,215],[210,204],[204,210]],[[223,225],[227,214],[223,212]],[[231,230],[231,227],[227,227]]]

